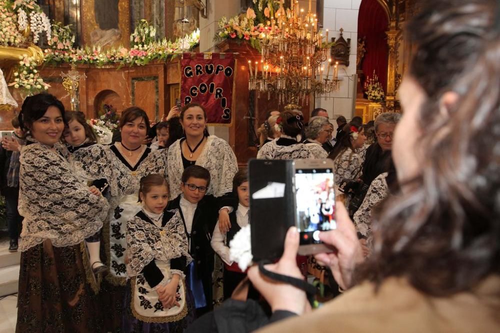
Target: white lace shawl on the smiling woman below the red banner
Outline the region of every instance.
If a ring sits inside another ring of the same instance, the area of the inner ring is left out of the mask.
[[[170,199],[180,193],[180,182],[184,167],[180,155],[180,139],[169,148],[160,150],[160,154],[167,155],[168,183],[170,185]],[[203,151],[196,160],[196,165],[202,166],[210,172],[210,185],[206,194],[220,197],[232,191],[232,178],[238,172],[238,163],[231,147],[223,139],[210,135],[207,138]]]

